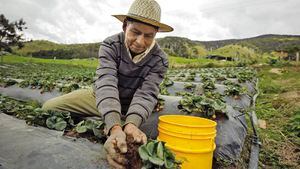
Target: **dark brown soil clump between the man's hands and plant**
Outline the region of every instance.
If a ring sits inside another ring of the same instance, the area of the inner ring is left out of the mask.
[[[133,142],[133,137],[127,136],[127,153],[125,154],[128,164],[126,169],[141,169],[143,166],[142,159],[140,158],[138,148],[142,144],[137,144]]]

